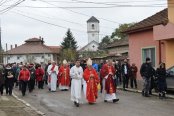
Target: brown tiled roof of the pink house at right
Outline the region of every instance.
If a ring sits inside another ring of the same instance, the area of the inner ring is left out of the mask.
[[[143,31],[146,29],[152,29],[153,26],[159,24],[166,24],[168,22],[168,13],[167,8],[136,23],[135,25],[131,26],[124,33],[133,33],[137,31]]]

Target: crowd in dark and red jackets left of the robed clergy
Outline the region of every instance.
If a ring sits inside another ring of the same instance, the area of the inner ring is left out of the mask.
[[[32,92],[35,85],[39,89],[43,89],[44,82],[47,83],[46,73],[40,64],[12,63],[0,65],[1,95],[3,95],[4,88],[7,95],[12,95],[13,88],[18,87],[24,96],[27,88],[29,92]]]

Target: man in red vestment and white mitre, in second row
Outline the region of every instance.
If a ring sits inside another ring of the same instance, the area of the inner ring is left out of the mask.
[[[66,60],[63,61],[63,65],[59,68],[58,83],[61,91],[68,91],[70,85],[70,68]]]

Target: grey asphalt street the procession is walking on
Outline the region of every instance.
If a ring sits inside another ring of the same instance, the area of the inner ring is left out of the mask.
[[[25,97],[18,90],[15,94],[44,112],[46,116],[174,116],[174,100],[161,100],[152,96],[142,97],[139,93],[118,91],[118,103],[104,103],[102,95],[95,105],[85,100],[77,108],[70,101],[70,92],[49,92],[47,89],[34,90]]]

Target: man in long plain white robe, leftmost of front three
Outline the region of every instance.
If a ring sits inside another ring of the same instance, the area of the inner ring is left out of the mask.
[[[76,107],[79,107],[81,100],[83,69],[80,66],[80,61],[77,60],[75,66],[70,70],[71,81],[71,100]]]

